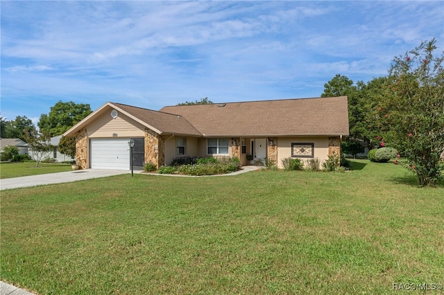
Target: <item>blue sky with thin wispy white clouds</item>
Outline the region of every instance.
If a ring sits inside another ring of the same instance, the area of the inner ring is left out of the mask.
[[[148,109],[318,97],[334,75],[386,75],[444,1],[1,1],[1,116],[58,100]]]

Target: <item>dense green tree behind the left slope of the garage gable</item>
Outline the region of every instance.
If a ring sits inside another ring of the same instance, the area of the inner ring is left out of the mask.
[[[59,100],[56,105],[51,107],[49,114],[40,116],[37,125],[42,133],[49,134],[49,136],[58,136],[91,113],[92,110],[88,104],[76,104],[72,101],[62,102],[62,100]]]

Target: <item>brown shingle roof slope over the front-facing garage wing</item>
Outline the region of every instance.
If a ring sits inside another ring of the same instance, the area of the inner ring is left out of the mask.
[[[132,107],[130,105],[122,105],[116,102],[111,103],[123,109],[123,111],[126,111],[128,114],[142,120],[144,123],[155,127],[162,133],[201,136],[200,132],[183,116],[167,114],[162,111],[153,111],[151,109],[142,109],[141,107]]]

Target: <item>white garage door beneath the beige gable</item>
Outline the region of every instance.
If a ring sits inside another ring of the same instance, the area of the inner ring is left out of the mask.
[[[128,138],[92,138],[91,168],[130,170]]]

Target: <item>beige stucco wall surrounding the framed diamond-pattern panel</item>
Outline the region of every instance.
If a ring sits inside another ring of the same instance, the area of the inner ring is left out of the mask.
[[[278,138],[278,168],[283,168],[282,159],[291,157],[291,143],[314,143],[314,158],[318,158],[321,163],[328,159],[328,137]],[[312,158],[299,159],[305,162]]]

